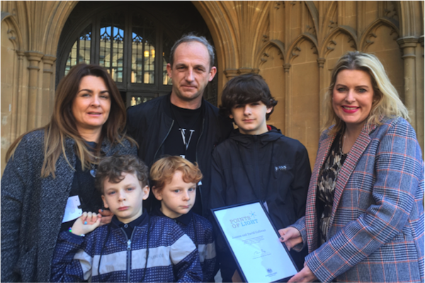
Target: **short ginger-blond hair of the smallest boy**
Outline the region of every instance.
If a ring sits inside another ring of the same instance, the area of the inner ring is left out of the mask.
[[[160,192],[166,184],[171,183],[176,171],[183,173],[185,183],[197,184],[203,177],[198,164],[193,164],[180,156],[165,156],[155,162],[150,170],[152,189]]]

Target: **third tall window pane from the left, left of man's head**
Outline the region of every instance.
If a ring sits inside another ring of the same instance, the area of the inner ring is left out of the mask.
[[[155,26],[135,14],[132,21],[131,82],[155,83]]]

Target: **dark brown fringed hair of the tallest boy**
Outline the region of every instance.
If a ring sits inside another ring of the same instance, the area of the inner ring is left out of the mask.
[[[270,89],[266,81],[259,74],[249,73],[235,76],[227,81],[222,93],[222,105],[220,113],[229,117],[232,114],[232,108],[237,104],[246,104],[261,101],[267,108],[276,106],[278,102],[271,96]],[[270,117],[266,114],[266,119]]]

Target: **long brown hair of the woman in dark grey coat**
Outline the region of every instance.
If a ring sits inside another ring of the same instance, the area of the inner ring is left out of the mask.
[[[102,126],[101,137],[98,141],[95,154],[88,148],[86,141],[80,136],[74,115],[72,114],[72,103],[79,90],[79,84],[84,76],[97,76],[106,84],[111,97],[111,110],[108,120]],[[90,163],[95,160],[95,156],[99,156],[103,139],[108,139],[113,144],[122,143],[124,138],[129,139],[131,144],[135,144],[133,139],[125,136],[126,111],[120,91],[118,91],[115,82],[108,74],[105,68],[96,64],[77,64],[72,67],[67,76],[60,81],[57,86],[55,96],[55,107],[53,108],[52,118],[44,129],[44,161],[41,168],[41,178],[47,178],[50,174],[55,178],[56,161],[63,155],[71,168],[68,156],[65,153],[65,139],[67,137],[74,139],[75,154],[81,161],[83,170],[90,167]],[[29,132],[36,131],[34,129]],[[19,142],[27,133],[22,134],[9,147],[6,152],[6,162],[13,156],[13,152]]]

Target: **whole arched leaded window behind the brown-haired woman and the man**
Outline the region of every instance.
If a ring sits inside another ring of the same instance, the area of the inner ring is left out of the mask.
[[[64,28],[61,51],[64,55],[59,60],[61,71],[57,81],[71,67],[84,62],[99,64],[108,70],[128,107],[169,93],[172,83],[166,66],[171,47],[181,33],[190,31],[188,27],[169,28],[132,4],[127,8],[126,5],[107,10],[99,8],[101,13],[91,14],[80,23],[75,19],[91,5],[91,1],[83,2],[78,13],[75,11],[74,21],[67,21]],[[112,2],[108,1],[113,5]],[[75,40],[69,42],[70,37]]]

